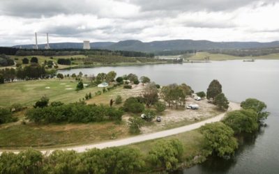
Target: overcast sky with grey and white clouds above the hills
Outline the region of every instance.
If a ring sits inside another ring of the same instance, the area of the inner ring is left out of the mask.
[[[279,40],[279,0],[0,0],[0,46]]]

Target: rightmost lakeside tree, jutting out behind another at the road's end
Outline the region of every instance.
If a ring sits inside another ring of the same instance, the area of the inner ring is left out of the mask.
[[[266,109],[266,104],[255,98],[248,98],[245,101],[241,102],[241,107],[243,109],[252,109],[258,115],[258,121],[261,122],[269,116],[269,112],[263,111]]]

